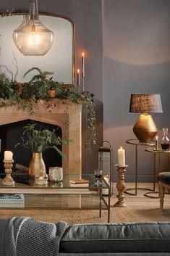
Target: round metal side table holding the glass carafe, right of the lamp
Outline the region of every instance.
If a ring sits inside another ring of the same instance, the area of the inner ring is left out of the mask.
[[[158,193],[156,190],[156,176],[158,173],[161,172],[161,154],[167,154],[168,157],[168,169],[170,171],[170,150],[163,150],[161,148],[159,149],[154,149],[154,148],[148,148],[145,149],[146,152],[150,152],[154,154],[154,165],[153,165],[153,176],[154,176],[154,181],[153,181],[153,192],[147,192],[144,194],[145,197],[151,197],[151,198],[159,198],[159,197],[153,197],[150,196],[152,193]],[[157,157],[158,157],[158,169],[156,170],[156,162],[157,162]]]

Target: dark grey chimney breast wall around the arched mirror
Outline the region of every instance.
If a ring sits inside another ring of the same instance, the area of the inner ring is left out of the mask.
[[[29,1],[7,0],[1,2],[0,11],[14,7],[15,11],[27,12]],[[98,144],[92,154],[85,149],[88,135],[86,123],[82,121],[82,171],[92,173],[98,166],[97,149],[103,138],[102,105],[102,5],[101,0],[39,0],[39,12],[65,15],[75,22],[76,70],[81,67],[81,54],[85,52],[85,90],[95,94],[97,112]]]

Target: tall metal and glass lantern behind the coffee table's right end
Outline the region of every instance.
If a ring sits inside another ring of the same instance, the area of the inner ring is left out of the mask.
[[[113,194],[113,151],[109,141],[102,141],[101,147],[98,149],[98,169],[103,170],[103,178],[109,183],[110,193]],[[102,189],[102,194],[109,196],[109,189]]]

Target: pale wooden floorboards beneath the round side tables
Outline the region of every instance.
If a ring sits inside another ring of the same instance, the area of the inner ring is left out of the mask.
[[[147,189],[153,189],[153,183],[138,183],[137,184],[137,196],[130,196],[124,194],[124,202],[127,207],[132,208],[140,221],[170,221],[170,194],[166,194],[164,197],[163,209],[160,209],[158,198],[145,197],[144,194]],[[126,189],[134,188],[134,183],[126,183]],[[156,191],[158,191],[158,185],[156,185]],[[135,191],[129,191],[134,193]],[[116,184],[114,184],[114,195],[111,197],[111,205],[116,202]],[[158,197],[158,193],[149,194],[152,197]]]

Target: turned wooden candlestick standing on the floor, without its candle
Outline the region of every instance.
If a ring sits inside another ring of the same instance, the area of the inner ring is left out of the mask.
[[[125,183],[124,183],[124,173],[126,171],[126,168],[128,165],[125,166],[119,166],[115,165],[118,171],[118,181],[116,183],[116,189],[118,191],[118,194],[116,197],[118,198],[118,201],[114,205],[114,207],[127,207],[127,205],[124,203],[124,189],[125,189]]]

